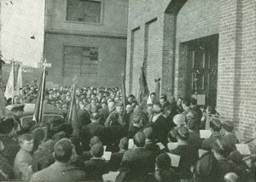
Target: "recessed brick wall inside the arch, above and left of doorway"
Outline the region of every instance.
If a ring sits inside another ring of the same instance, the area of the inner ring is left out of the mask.
[[[177,14],[174,95],[185,95],[185,48],[181,43],[218,34],[219,0],[189,0]]]

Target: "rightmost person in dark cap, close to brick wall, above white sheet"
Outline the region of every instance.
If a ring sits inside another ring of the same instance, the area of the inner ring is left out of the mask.
[[[236,150],[236,144],[238,144],[239,141],[236,139],[236,134],[233,132],[233,123],[231,121],[225,121],[223,122],[222,127],[224,128],[225,134],[221,138],[221,141],[224,145],[227,145],[230,152]]]

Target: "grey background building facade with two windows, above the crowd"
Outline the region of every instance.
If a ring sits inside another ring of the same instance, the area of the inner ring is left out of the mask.
[[[44,55],[49,82],[121,86],[125,70],[125,0],[47,0]]]

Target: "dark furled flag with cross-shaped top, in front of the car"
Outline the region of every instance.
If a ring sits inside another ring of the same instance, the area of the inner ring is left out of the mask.
[[[43,125],[43,116],[44,116],[44,94],[45,94],[45,77],[46,71],[44,67],[44,71],[42,73],[40,86],[38,89],[38,100],[35,105],[35,111],[33,115],[33,121],[37,122],[39,126]]]

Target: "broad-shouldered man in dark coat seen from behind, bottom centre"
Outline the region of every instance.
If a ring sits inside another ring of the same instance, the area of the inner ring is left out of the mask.
[[[154,172],[155,156],[152,151],[144,148],[145,134],[138,132],[133,137],[134,147],[132,150],[125,151],[120,171],[127,172],[125,181],[147,181],[148,173]]]

